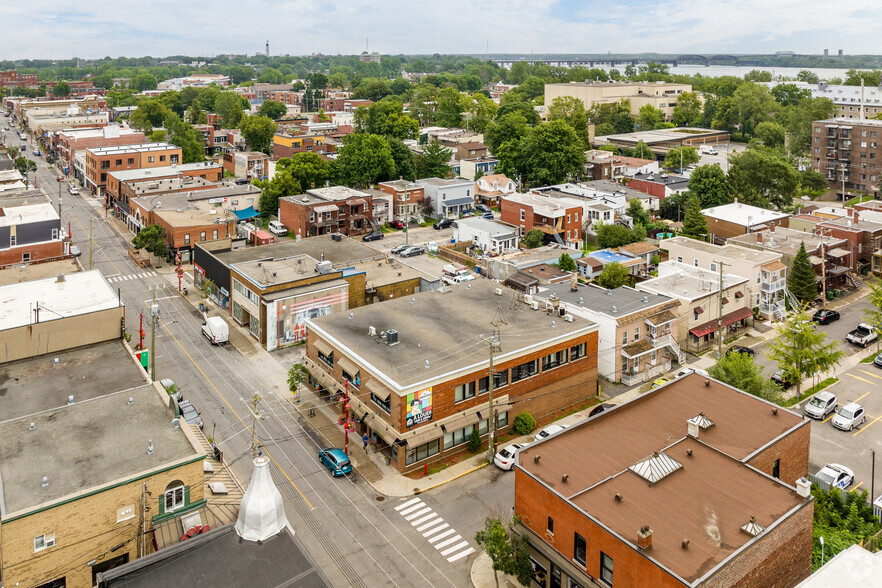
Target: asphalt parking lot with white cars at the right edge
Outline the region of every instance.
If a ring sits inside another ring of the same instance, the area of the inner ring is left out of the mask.
[[[858,364],[827,390],[836,395],[840,407],[849,402],[863,406],[866,420],[853,431],[835,428],[830,422],[832,415],[824,421],[813,420],[809,471],[815,473],[827,463],[844,465],[855,474],[855,481],[848,490],[870,492],[870,450],[882,450],[882,369],[872,363]],[[804,405],[802,402],[794,409],[801,413]],[[882,451],[879,454],[882,459]],[[875,492],[877,496],[882,494],[882,463],[876,471]]]

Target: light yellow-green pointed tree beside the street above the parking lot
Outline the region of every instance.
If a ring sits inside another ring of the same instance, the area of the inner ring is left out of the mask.
[[[802,381],[839,364],[843,351],[836,341],[826,342],[827,335],[817,329],[803,308],[784,322],[780,334],[769,343],[768,356],[778,363],[778,371],[788,382],[796,384],[799,400]]]

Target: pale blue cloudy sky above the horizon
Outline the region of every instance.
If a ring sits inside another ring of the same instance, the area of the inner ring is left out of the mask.
[[[0,59],[360,53],[878,54],[879,0],[28,0]]]

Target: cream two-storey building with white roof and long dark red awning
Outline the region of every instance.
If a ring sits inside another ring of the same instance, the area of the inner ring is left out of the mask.
[[[677,340],[687,351],[700,353],[716,346],[719,337],[731,339],[752,324],[746,286],[746,278],[723,273],[721,294],[719,273],[665,261],[658,266],[658,277],[640,282],[637,289],[680,301]]]

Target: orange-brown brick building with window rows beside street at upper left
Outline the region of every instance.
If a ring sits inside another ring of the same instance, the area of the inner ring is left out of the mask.
[[[93,147],[85,150],[85,186],[90,193],[105,196],[107,174],[112,171],[166,167],[181,163],[181,148],[171,143],[143,143]],[[110,205],[109,200],[106,205]]]

